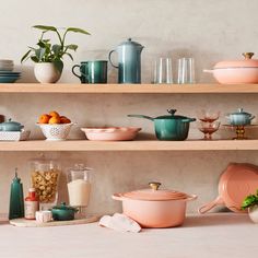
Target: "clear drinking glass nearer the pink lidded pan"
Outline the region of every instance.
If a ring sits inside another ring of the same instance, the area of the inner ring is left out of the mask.
[[[196,83],[194,58],[178,59],[177,83],[179,83],[179,84]]]

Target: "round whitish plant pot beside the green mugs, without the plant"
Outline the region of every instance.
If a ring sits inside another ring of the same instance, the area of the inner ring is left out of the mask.
[[[35,63],[34,74],[40,83],[56,83],[61,77],[61,72],[51,62]]]

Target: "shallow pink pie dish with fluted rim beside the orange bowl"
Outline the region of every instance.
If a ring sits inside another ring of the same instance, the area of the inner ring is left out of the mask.
[[[91,141],[131,141],[141,130],[138,127],[86,127],[81,128]]]

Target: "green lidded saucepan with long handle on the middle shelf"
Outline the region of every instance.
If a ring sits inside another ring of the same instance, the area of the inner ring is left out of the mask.
[[[128,115],[154,121],[156,138],[162,141],[184,141],[188,137],[189,124],[196,118],[176,116],[176,109],[167,109],[171,115],[152,118],[144,115]]]

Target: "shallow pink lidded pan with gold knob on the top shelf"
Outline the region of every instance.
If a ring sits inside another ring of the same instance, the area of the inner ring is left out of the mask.
[[[243,54],[244,60],[221,61],[212,70],[203,70],[213,74],[219,83],[258,83],[258,59],[251,59],[254,52]]]

